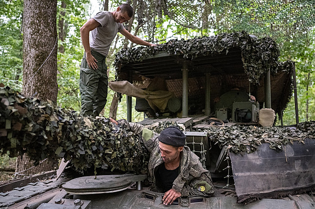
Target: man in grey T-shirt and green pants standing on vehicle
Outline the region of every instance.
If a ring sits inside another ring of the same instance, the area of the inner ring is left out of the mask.
[[[132,15],[132,7],[123,3],[115,11],[98,12],[80,28],[85,51],[79,81],[82,115],[98,116],[106,104],[108,78],[105,58],[117,32],[133,43],[144,46],[155,45],[130,34],[123,27],[121,23],[128,21]]]

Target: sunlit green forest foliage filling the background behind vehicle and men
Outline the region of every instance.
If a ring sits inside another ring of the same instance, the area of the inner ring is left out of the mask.
[[[58,46],[62,45],[64,52],[58,53],[57,57],[59,87],[57,103],[61,107],[79,111],[78,79],[83,55],[79,28],[88,19],[90,4],[89,0],[63,2],[66,4],[65,8],[61,7],[61,0],[58,0],[57,4],[57,25],[61,17],[67,24],[64,41],[58,41]],[[119,3],[109,1],[110,6]],[[295,62],[300,121],[314,119],[315,7],[312,1],[213,0],[187,4],[186,0],[171,0],[160,4],[159,1],[139,1],[135,4],[136,23],[141,26],[137,36],[158,43],[163,43],[170,37],[187,39],[241,30],[246,30],[257,37],[271,36],[279,44],[280,61],[290,59]],[[22,0],[0,0],[0,83],[19,91],[22,88],[22,13]],[[111,53],[106,58],[109,80],[114,79],[113,54],[121,49],[124,38],[121,35],[118,37],[118,43],[115,46],[112,44]],[[249,67],[248,65],[247,68]],[[109,113],[112,95],[113,92],[108,89],[105,115]],[[286,124],[295,123],[293,103],[291,99],[284,112],[283,121],[288,121]],[[117,118],[126,117],[125,107],[124,101],[119,103]],[[135,112],[133,108],[132,111],[132,117],[141,114]],[[142,115],[137,118],[132,120],[141,120]]]

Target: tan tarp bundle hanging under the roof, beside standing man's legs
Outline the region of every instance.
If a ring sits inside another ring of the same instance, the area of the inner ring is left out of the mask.
[[[111,90],[132,97],[144,98],[150,107],[155,111],[165,111],[167,102],[173,97],[169,91],[157,90],[148,91],[133,86],[128,81],[110,81],[108,86]]]

